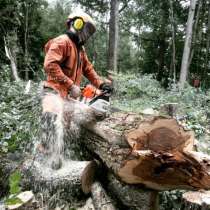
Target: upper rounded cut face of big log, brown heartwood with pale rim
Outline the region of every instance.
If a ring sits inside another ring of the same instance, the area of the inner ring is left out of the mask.
[[[184,131],[175,119],[162,117],[141,122],[137,129],[127,132],[126,138],[134,150],[173,153],[183,151],[187,146],[192,150],[194,145],[192,132]]]

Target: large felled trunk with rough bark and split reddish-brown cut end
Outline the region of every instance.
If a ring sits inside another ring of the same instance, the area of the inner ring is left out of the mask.
[[[155,190],[209,189],[210,158],[175,119],[114,113],[83,125],[82,142],[127,184]]]

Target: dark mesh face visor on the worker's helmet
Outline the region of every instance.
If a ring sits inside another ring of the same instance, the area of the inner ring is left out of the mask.
[[[78,34],[80,43],[85,43],[95,33],[95,31],[96,28],[92,23],[85,23],[84,28]]]

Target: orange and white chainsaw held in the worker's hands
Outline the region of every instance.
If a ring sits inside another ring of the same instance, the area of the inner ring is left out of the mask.
[[[108,91],[101,91],[92,85],[87,85],[82,89],[80,101],[96,111],[106,114],[110,110],[110,96],[111,93]]]

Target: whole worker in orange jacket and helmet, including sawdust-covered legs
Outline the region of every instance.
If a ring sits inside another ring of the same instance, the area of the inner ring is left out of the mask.
[[[41,154],[52,156],[50,164],[53,169],[62,165],[64,99],[79,98],[83,75],[96,88],[105,92],[112,91],[111,84],[103,82],[95,72],[83,47],[96,31],[92,18],[86,13],[71,14],[67,19],[67,27],[65,34],[51,39],[45,45],[44,70],[47,80],[44,81],[42,98],[42,137],[37,149]]]

